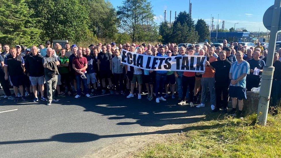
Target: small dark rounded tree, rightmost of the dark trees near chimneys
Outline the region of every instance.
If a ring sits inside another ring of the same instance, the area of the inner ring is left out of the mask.
[[[198,42],[204,42],[205,39],[210,40],[210,30],[206,22],[203,19],[198,19],[195,24],[195,31],[198,32]]]

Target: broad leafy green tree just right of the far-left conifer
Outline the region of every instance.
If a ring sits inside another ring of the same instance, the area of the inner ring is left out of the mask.
[[[40,18],[42,39],[68,39],[75,43],[93,37],[86,8],[79,0],[29,0],[33,16]]]

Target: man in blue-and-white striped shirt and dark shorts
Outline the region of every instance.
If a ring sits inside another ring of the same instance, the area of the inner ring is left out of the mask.
[[[238,51],[236,54],[236,62],[233,62],[229,71],[229,97],[231,97],[232,110],[230,114],[236,114],[236,105],[238,99],[237,113],[238,117],[242,116],[243,99],[246,98],[246,75],[250,73],[250,64],[243,60],[243,52]]]

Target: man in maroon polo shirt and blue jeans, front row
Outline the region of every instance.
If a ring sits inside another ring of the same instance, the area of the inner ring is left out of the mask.
[[[83,82],[84,94],[86,94],[86,97],[90,97],[90,94],[88,94],[86,78],[86,68],[88,67],[88,62],[87,59],[82,56],[82,50],[77,50],[77,57],[74,57],[72,67],[75,70],[75,78],[77,81],[77,95],[75,98],[79,98],[81,96],[81,81]]]

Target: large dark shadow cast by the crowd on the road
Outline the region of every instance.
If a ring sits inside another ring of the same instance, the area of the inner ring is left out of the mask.
[[[169,124],[194,123],[201,120],[205,121],[205,115],[210,113],[208,103],[204,108],[178,105],[177,103],[177,99],[172,98],[156,103],[155,99],[147,100],[146,95],[142,95],[142,99],[137,99],[137,97],[126,98],[123,95],[105,95],[93,98],[81,96],[78,99],[67,96],[61,98],[58,102],[54,102],[56,106],[81,106],[84,108],[84,112],[98,113],[102,116],[107,116],[109,120],[120,120],[116,123],[117,125],[139,124],[148,127],[161,127]],[[5,104],[8,105],[9,102],[5,102]],[[33,102],[18,104],[34,105]],[[39,101],[39,103],[35,104],[43,104],[43,102]],[[133,119],[133,121],[128,121],[128,119]]]

